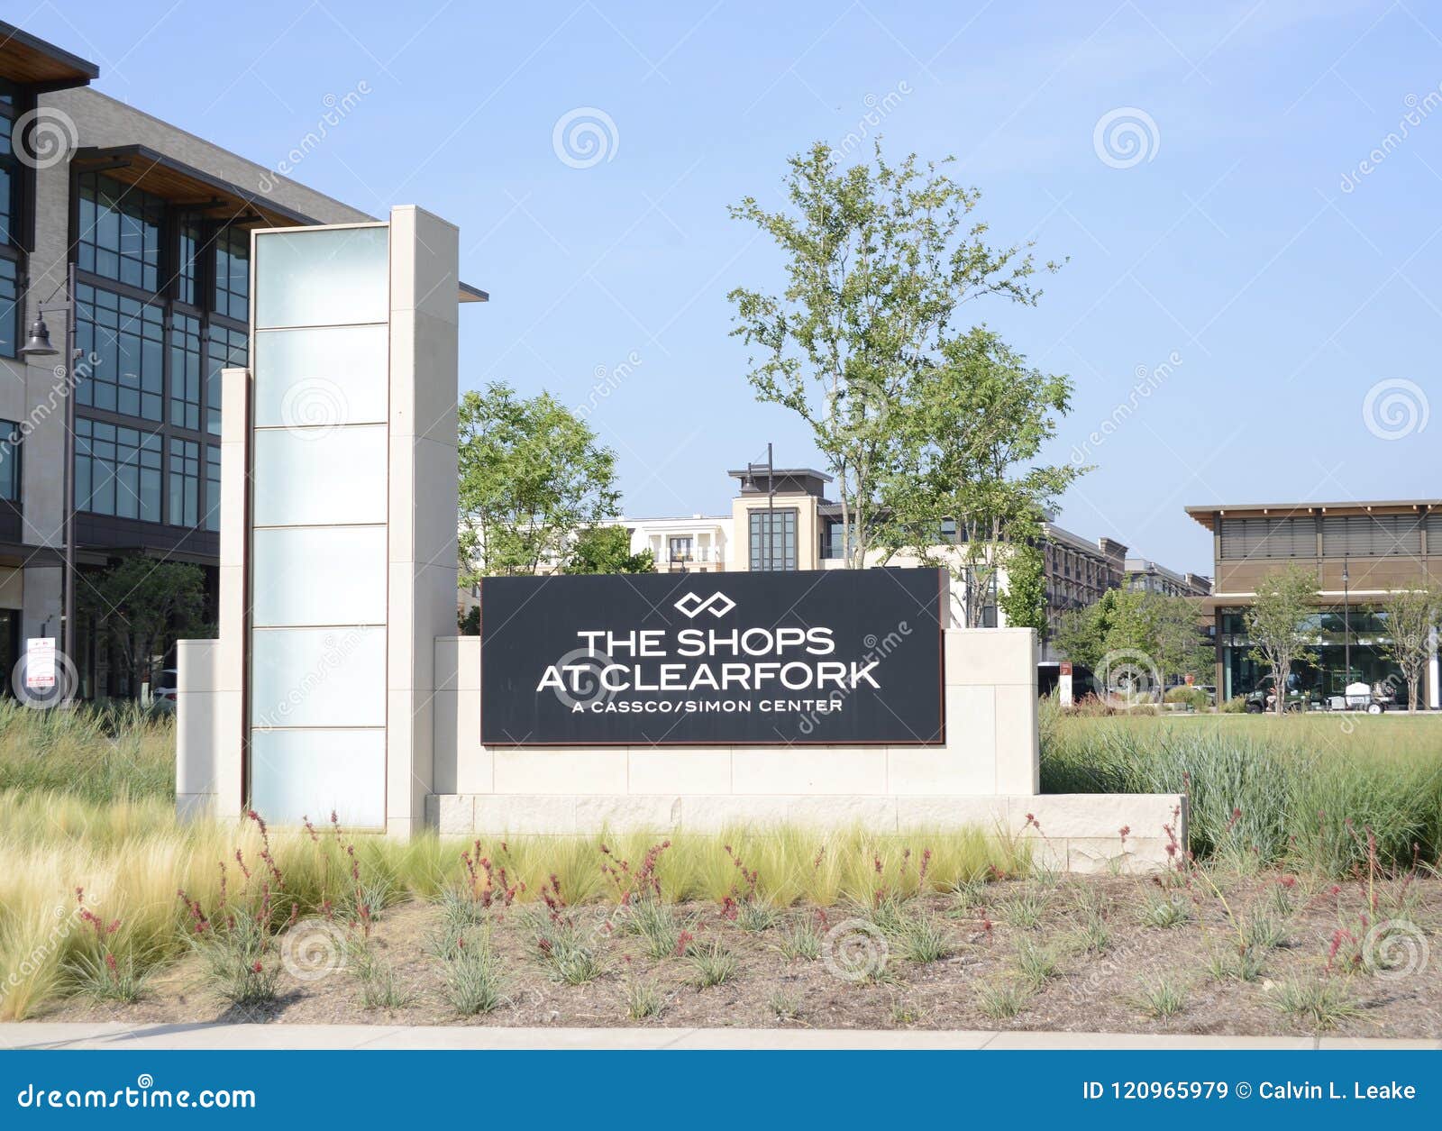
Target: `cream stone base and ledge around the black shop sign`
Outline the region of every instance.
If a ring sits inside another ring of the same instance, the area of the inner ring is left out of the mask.
[[[1035,838],[1037,860],[1069,871],[1165,866],[1164,827],[1185,844],[1181,796],[1040,792],[1035,649],[1031,629],[949,629],[939,746],[487,747],[480,641],[441,638],[425,822],[443,835],[973,825]]]

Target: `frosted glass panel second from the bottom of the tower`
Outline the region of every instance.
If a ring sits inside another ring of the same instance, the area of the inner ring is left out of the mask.
[[[255,629],[251,726],[385,726],[385,629]]]

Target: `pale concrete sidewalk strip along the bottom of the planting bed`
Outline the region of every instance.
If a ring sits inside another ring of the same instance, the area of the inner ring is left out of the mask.
[[[0,1049],[1438,1049],[1442,1040],[868,1029],[0,1024]]]

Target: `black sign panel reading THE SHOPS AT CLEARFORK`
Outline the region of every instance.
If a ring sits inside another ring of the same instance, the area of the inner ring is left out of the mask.
[[[487,746],[943,741],[940,570],[487,577]]]

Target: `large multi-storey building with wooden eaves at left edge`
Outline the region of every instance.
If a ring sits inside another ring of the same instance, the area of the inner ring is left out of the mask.
[[[91,89],[94,63],[0,25],[0,659],[59,636],[65,342],[75,312],[76,589],[128,554],[219,560],[219,372],[245,365],[251,229],[371,219]],[[68,293],[74,276],[74,294]],[[476,296],[479,297],[479,296]],[[26,356],[40,307],[53,356]],[[82,698],[133,681],[76,622]],[[9,678],[6,679],[9,685]]]

